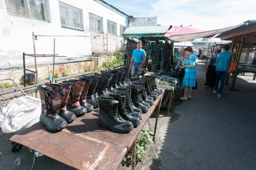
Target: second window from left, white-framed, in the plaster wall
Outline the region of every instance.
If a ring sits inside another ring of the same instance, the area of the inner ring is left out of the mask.
[[[72,7],[71,5],[59,2],[60,22],[62,26],[83,29],[82,9]]]

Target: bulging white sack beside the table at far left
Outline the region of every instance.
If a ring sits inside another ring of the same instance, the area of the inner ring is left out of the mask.
[[[2,109],[0,127],[5,133],[14,133],[39,122],[41,99],[19,97]]]

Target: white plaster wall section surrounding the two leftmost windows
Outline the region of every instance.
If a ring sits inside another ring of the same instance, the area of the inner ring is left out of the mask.
[[[58,0],[49,0],[51,23],[11,16],[7,13],[5,0],[0,0],[0,60],[2,62],[22,61],[22,52],[34,53],[33,31],[35,35],[90,36],[88,31],[89,15],[87,1],[63,0],[63,2],[83,9],[85,31],[61,27]],[[59,55],[79,57],[92,54],[90,37],[38,37],[38,40],[35,42],[36,53],[53,54],[54,38],[56,39],[56,53]],[[46,58],[43,60],[46,60]]]

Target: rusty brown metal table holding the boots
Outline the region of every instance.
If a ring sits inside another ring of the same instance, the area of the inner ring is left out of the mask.
[[[94,109],[91,113],[77,117],[59,132],[50,132],[45,126],[36,123],[10,140],[77,169],[117,169],[127,151],[132,148],[132,170],[135,170],[136,139],[157,108],[154,130],[156,134],[164,90],[154,101],[155,105],[152,105],[147,113],[142,114],[141,124],[128,134],[118,134],[99,127],[99,110]]]

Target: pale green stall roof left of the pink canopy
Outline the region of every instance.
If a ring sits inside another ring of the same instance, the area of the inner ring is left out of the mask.
[[[132,26],[123,32],[125,37],[152,37],[164,36],[171,26]]]

